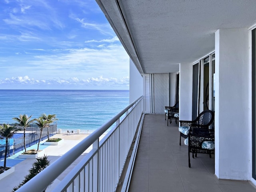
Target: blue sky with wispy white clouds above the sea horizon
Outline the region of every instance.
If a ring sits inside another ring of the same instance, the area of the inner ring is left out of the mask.
[[[0,89],[129,89],[129,57],[95,0],[1,0]]]

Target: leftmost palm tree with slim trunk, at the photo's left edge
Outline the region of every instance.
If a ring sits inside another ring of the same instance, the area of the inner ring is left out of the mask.
[[[8,139],[12,138],[13,135],[20,131],[19,128],[16,128],[15,126],[10,126],[8,124],[3,124],[3,126],[0,126],[0,139],[5,139],[5,154],[4,154],[4,170],[6,168],[6,157],[7,157],[7,148],[8,148]]]

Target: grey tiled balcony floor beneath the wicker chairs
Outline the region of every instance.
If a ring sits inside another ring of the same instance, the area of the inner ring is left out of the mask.
[[[247,181],[221,180],[214,174],[214,155],[191,157],[179,145],[178,124],[167,126],[163,114],[146,114],[130,182],[130,192],[256,192]]]

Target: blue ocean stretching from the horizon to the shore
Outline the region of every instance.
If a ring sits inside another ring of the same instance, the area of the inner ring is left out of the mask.
[[[90,133],[129,105],[129,90],[0,90],[0,123],[20,114],[56,114],[62,133]]]

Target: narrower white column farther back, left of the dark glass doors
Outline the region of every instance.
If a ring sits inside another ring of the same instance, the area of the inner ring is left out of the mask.
[[[192,64],[180,64],[180,120],[192,120]]]

